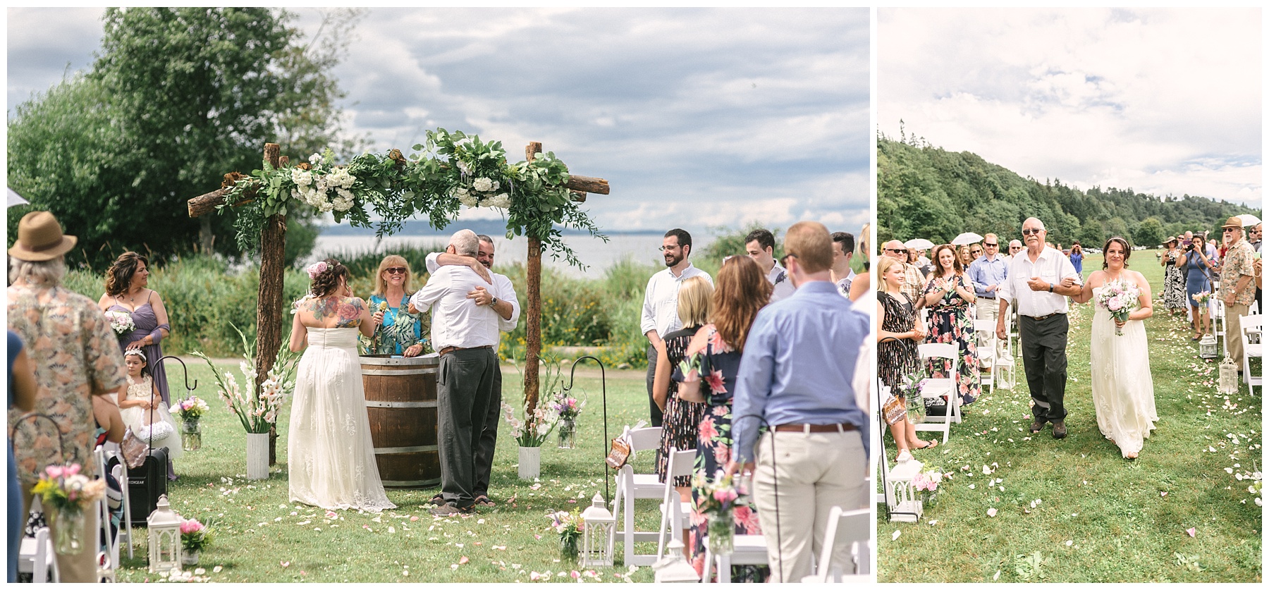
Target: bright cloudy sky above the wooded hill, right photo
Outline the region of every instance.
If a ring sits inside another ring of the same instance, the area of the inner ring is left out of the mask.
[[[1023,176],[1260,203],[1259,9],[878,9],[877,121]]]

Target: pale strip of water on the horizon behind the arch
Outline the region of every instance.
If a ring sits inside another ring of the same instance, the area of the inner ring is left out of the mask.
[[[514,240],[508,240],[503,236],[492,237],[494,251],[496,252],[494,259],[495,266],[514,263],[523,264],[528,259],[527,237],[522,236]],[[563,240],[570,247],[572,247],[572,250],[577,254],[577,259],[580,259],[588,269],[584,272],[581,269],[569,266],[567,263],[565,263],[563,256],[561,256],[560,260],[552,260],[549,252],[542,254],[542,264],[560,269],[574,277],[603,273],[608,266],[612,266],[614,263],[618,263],[624,258],[632,258],[638,263],[655,263],[657,265],[665,264],[661,258],[661,252],[657,250],[661,247],[664,237],[657,233],[618,233],[608,236],[608,242],[590,236],[566,235],[563,236]],[[699,250],[712,242],[713,236],[693,235],[692,241],[693,249]],[[321,235],[317,236],[317,242],[313,245],[312,255],[310,255],[303,264],[310,264],[326,256],[338,258],[340,252],[364,252],[373,250],[387,255],[392,254],[393,249],[401,249],[404,246],[435,246],[439,250],[444,249],[448,242],[449,233],[434,236],[385,236],[382,240],[376,239],[373,235]]]

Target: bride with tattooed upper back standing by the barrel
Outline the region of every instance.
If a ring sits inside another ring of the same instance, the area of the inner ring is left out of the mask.
[[[311,297],[294,311],[291,350],[299,359],[287,440],[291,500],[327,510],[381,511],[388,501],[374,462],[365,412],[358,332],[374,326],[352,297],[348,268],[332,259],[308,266]]]

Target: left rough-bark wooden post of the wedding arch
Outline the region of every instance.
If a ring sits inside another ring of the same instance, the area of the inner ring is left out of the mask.
[[[282,147],[277,143],[264,145],[264,160],[277,167]],[[269,369],[282,345],[282,279],[283,260],[287,251],[287,216],[269,217],[260,230],[260,301],[255,315],[255,395],[261,393],[261,383],[268,379]],[[278,429],[269,426],[269,464],[278,463]]]

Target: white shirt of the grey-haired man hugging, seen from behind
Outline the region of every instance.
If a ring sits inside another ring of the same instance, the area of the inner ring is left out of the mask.
[[[431,348],[497,346],[499,315],[490,306],[477,306],[467,293],[489,287],[467,266],[440,266],[428,285],[410,296],[415,310],[431,310]]]

